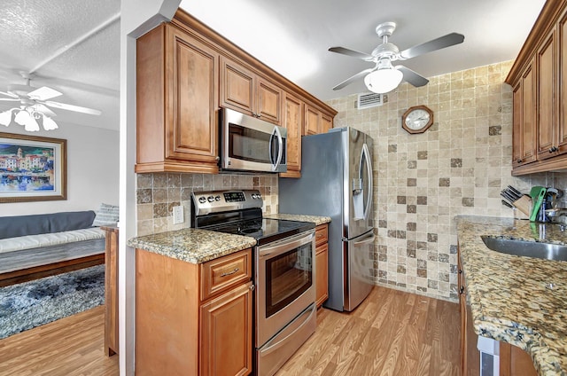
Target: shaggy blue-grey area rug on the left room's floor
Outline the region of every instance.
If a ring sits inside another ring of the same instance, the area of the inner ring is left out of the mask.
[[[0,339],[105,303],[105,265],[0,288]]]

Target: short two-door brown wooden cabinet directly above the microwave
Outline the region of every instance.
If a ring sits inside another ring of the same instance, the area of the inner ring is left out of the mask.
[[[282,98],[275,84],[221,57],[221,106],[281,125]]]

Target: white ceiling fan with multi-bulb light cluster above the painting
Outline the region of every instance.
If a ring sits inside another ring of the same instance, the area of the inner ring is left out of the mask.
[[[13,107],[0,113],[0,124],[6,127],[12,123],[13,117],[13,121],[19,125],[23,125],[27,131],[39,130],[38,121],[42,122],[43,129],[45,130],[57,129],[57,123],[51,119],[57,116],[57,114],[51,111],[49,107],[82,114],[102,114],[100,111],[92,108],[54,102],[50,99],[63,94],[47,86],[36,89],[30,84],[33,74],[27,74],[26,72],[20,72],[20,74],[26,80],[25,85],[12,84],[8,86],[7,91],[0,91],[0,96],[5,97],[0,97],[0,101],[19,102],[19,107]]]

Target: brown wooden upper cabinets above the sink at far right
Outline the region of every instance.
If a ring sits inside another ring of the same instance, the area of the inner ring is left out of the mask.
[[[512,175],[567,168],[566,8],[567,0],[546,2],[506,78],[514,88]]]

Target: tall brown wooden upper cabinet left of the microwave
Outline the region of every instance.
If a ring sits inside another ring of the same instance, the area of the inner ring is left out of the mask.
[[[136,172],[218,172],[219,53],[171,24],[136,51]]]

